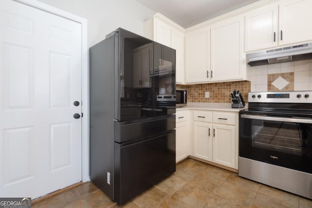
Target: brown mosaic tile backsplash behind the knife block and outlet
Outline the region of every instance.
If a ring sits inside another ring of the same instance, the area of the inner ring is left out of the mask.
[[[217,82],[195,85],[176,85],[177,90],[187,90],[188,102],[207,103],[231,103],[230,94],[233,89],[239,90],[245,101],[250,92],[250,81]],[[205,98],[205,92],[209,91],[209,98]]]

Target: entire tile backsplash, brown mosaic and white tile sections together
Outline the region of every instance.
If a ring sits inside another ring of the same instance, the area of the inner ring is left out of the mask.
[[[188,102],[231,103],[233,89],[240,90],[247,102],[248,92],[312,90],[312,59],[250,67],[250,81],[217,82],[194,85],[176,85],[177,90],[188,91]],[[209,91],[209,98],[205,92]]]

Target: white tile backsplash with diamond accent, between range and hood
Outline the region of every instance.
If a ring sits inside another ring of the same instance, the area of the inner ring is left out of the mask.
[[[251,92],[312,90],[312,59],[247,67]]]

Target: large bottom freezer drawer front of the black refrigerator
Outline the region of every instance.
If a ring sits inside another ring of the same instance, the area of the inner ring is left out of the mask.
[[[175,171],[175,130],[124,147],[115,142],[114,201],[124,204]]]

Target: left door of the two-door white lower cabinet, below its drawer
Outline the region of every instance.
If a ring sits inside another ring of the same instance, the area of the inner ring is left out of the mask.
[[[212,124],[194,122],[194,156],[212,161]]]

